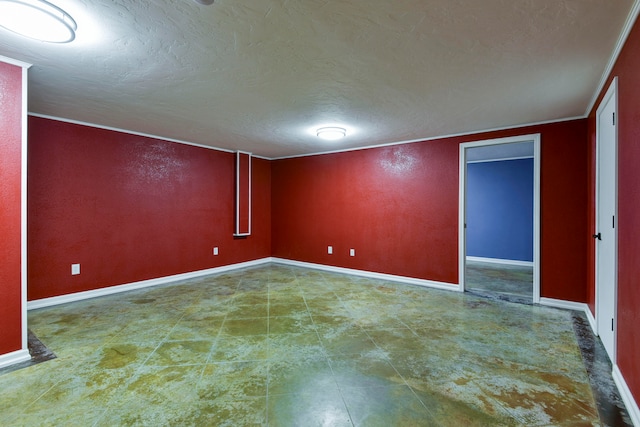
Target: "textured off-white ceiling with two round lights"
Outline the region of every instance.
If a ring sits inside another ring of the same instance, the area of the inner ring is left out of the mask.
[[[633,0],[51,0],[29,111],[266,157],[583,116]],[[327,143],[314,130],[339,125]]]

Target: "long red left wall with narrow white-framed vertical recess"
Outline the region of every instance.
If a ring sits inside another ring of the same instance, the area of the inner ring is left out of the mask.
[[[30,117],[29,300],[270,256],[271,165],[253,160],[253,235],[234,239],[234,162],[233,153]]]

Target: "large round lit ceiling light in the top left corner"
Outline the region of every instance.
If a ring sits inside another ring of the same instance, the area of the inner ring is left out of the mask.
[[[44,0],[0,0],[0,26],[52,43],[72,41],[78,28],[67,12]]]

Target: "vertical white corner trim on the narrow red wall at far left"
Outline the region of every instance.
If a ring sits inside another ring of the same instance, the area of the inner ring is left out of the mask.
[[[22,143],[21,143],[21,176],[20,176],[20,287],[22,306],[22,349],[29,348],[28,316],[27,316],[27,164],[28,164],[28,123],[27,105],[29,99],[28,67],[22,67]],[[28,352],[28,350],[27,350]]]

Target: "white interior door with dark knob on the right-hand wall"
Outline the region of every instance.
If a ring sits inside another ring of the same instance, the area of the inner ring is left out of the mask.
[[[616,82],[597,111],[596,138],[596,323],[609,358],[615,362],[616,319]]]

